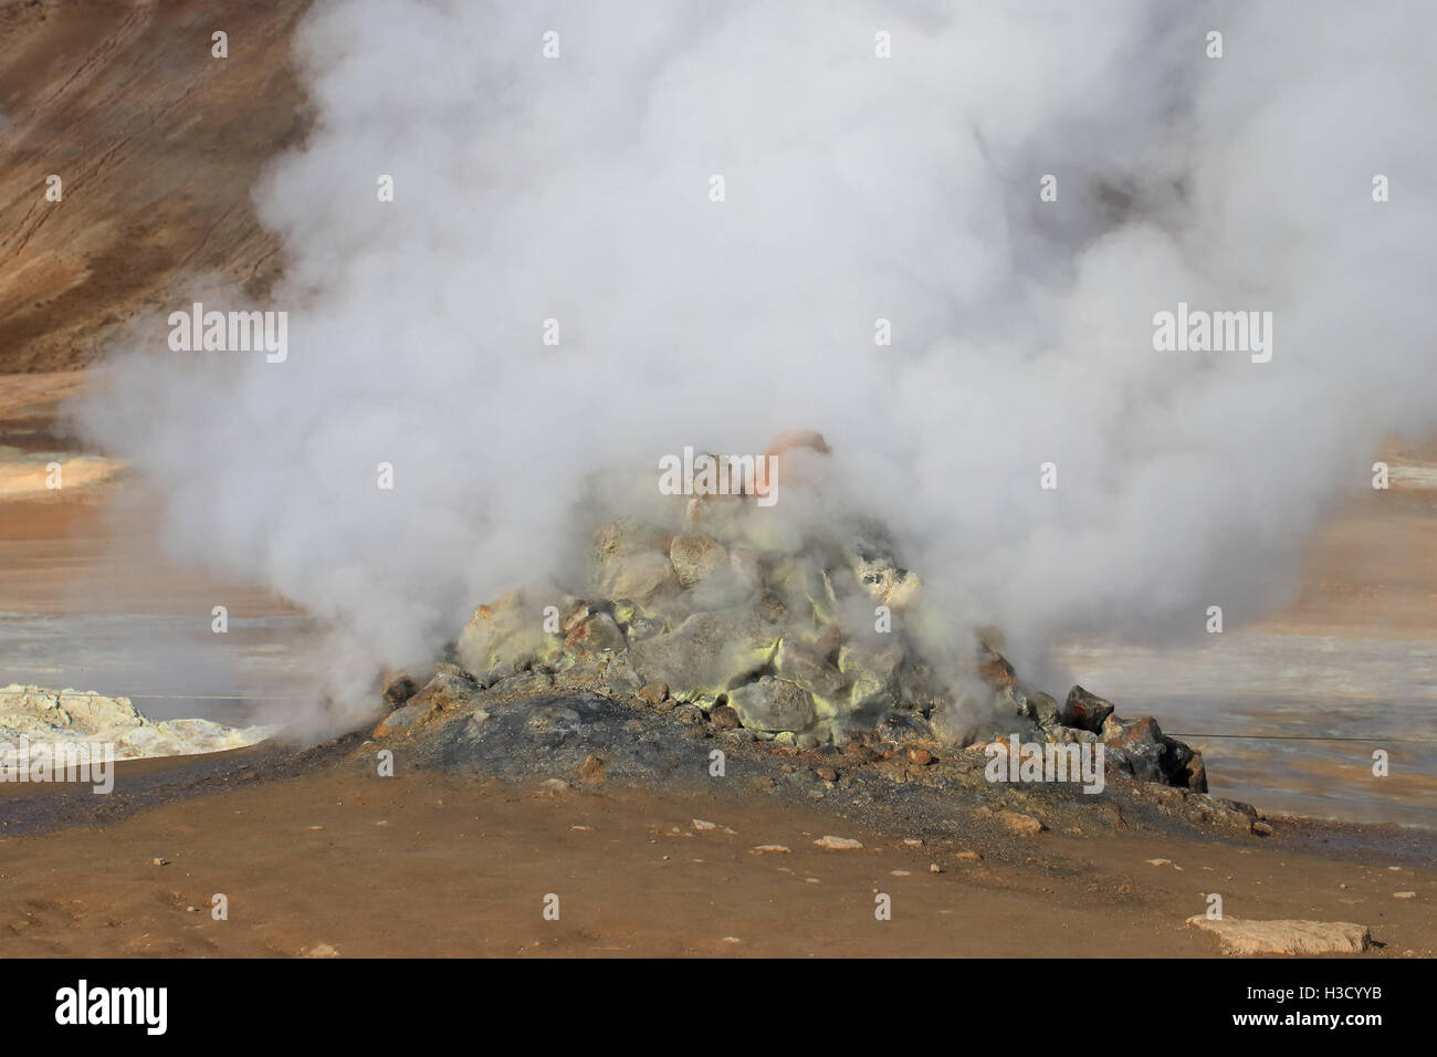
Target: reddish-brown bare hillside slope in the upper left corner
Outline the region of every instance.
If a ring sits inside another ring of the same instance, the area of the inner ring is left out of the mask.
[[[303,134],[306,6],[0,3],[0,374],[91,362],[184,273],[269,289],[280,253],[250,186]]]

